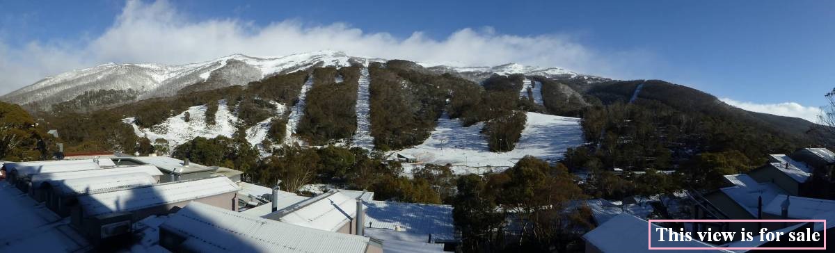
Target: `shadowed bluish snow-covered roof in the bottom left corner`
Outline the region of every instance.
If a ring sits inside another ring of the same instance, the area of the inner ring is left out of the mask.
[[[89,243],[82,235],[13,185],[0,184],[0,252],[75,252],[86,251]]]

